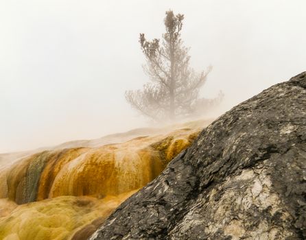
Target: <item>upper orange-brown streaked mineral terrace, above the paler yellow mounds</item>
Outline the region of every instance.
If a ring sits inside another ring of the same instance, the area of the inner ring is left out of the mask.
[[[25,204],[62,195],[104,197],[139,189],[156,178],[197,134],[176,130],[126,143],[44,151],[0,173],[1,197]]]

